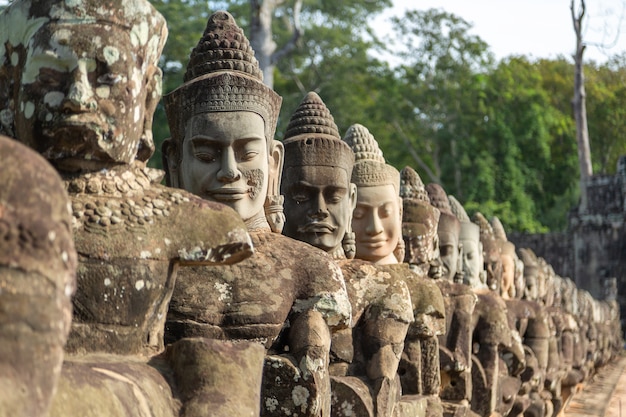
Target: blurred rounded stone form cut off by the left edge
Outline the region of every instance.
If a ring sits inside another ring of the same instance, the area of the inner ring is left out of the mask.
[[[76,250],[56,171],[0,136],[0,415],[47,416],[70,329]]]

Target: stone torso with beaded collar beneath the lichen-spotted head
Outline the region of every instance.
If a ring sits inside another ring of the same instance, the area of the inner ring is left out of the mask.
[[[124,168],[66,180],[79,254],[70,352],[158,352],[178,259],[245,256],[233,211],[154,184],[151,174]]]

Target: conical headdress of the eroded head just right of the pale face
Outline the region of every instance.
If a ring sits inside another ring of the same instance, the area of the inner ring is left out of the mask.
[[[406,238],[434,239],[439,224],[439,210],[430,204],[430,198],[419,174],[411,167],[400,172],[402,197],[402,235]]]

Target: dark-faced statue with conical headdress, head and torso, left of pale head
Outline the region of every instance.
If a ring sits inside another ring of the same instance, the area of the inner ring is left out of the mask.
[[[355,157],[317,94],[304,97],[283,143],[284,232],[333,255],[352,305],[352,327],[332,334],[332,415],[391,416],[400,395],[398,361],[413,322],[408,289],[375,264],[347,259],[344,247],[354,251]]]

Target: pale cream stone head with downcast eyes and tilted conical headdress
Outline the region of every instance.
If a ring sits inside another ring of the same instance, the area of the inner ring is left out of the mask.
[[[402,242],[400,173],[385,164],[378,142],[366,127],[354,124],[343,140],[354,152],[352,182],[357,202],[352,219],[356,257],[377,264],[395,264],[394,251]]]

